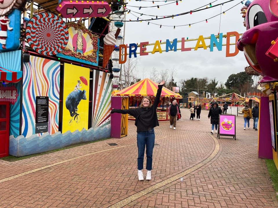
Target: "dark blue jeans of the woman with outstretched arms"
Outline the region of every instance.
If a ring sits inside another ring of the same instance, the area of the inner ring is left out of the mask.
[[[154,147],[154,129],[149,131],[137,132],[137,147],[138,147],[138,170],[143,169],[145,146],[147,155],[146,169],[152,170],[153,163],[153,147]]]

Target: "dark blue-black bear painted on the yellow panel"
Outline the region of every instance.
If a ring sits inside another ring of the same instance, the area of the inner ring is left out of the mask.
[[[86,91],[77,90],[72,91],[66,98],[66,108],[69,110],[70,116],[74,116],[78,110],[77,106],[81,100],[87,100]]]

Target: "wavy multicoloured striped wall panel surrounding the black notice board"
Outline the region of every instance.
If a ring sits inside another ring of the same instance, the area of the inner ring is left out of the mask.
[[[58,131],[60,62],[30,56],[30,62],[23,64],[21,134],[25,138],[35,134],[36,96],[49,97],[48,132],[54,134]]]

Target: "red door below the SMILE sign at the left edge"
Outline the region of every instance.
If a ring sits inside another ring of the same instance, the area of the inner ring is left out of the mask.
[[[10,103],[0,102],[0,157],[9,156]]]

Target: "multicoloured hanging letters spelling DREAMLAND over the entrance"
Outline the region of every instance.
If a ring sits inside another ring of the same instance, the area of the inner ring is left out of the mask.
[[[235,56],[238,54],[239,50],[237,49],[235,43],[233,45],[235,45],[235,52],[234,53],[230,53],[230,38],[231,36],[235,36],[235,40],[237,41],[239,39],[239,33],[238,32],[228,32],[227,35],[224,35],[224,37],[227,38],[226,40],[226,57],[232,57],[232,56]],[[217,38],[219,38],[219,41],[217,41]],[[203,48],[204,50],[207,49],[207,46],[205,44],[205,40],[204,39],[210,39],[210,51],[213,51],[213,47],[216,47],[218,51],[222,51],[222,40],[223,40],[223,34],[220,33],[219,34],[219,37],[218,36],[215,36],[214,34],[211,34],[211,36],[209,38],[204,38],[202,35],[199,36],[197,40],[197,43],[195,45],[194,48],[194,51],[197,51],[198,48]],[[138,44],[135,44],[135,43],[131,43],[129,44],[129,58],[131,58],[131,55],[133,54],[134,57],[137,57],[137,49],[138,49],[138,46],[140,48],[140,56],[143,56],[143,55],[149,55],[149,53],[156,53],[156,52],[159,52],[159,53],[162,53],[162,49],[161,49],[161,46],[160,44],[166,44],[166,49],[165,51],[166,52],[169,52],[169,51],[177,51],[177,50],[181,50],[181,51],[191,51],[191,49],[193,48],[185,48],[184,46],[184,42],[185,41],[189,41],[189,40],[185,40],[185,38],[182,38],[181,41],[178,41],[177,38],[175,38],[173,41],[170,41],[170,40],[166,40],[166,43],[160,43],[159,40],[157,40],[154,44],[154,47],[153,47],[153,50],[151,52],[147,52],[147,45],[149,45],[149,42],[140,42],[140,45]],[[178,42],[181,42],[181,49],[177,49],[177,44]],[[122,49],[123,49],[123,54],[122,54]],[[126,61],[127,61],[127,45],[120,45],[119,46],[119,64],[124,64]],[[123,59],[121,58],[123,56]]]

